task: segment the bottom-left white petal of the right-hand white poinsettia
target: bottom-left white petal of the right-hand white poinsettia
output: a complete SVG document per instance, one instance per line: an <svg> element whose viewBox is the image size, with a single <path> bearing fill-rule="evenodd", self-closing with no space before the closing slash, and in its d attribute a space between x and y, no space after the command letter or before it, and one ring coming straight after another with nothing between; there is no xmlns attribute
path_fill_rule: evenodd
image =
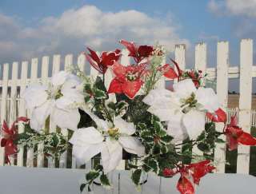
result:
<svg viewBox="0 0 256 194"><path fill-rule="evenodd" d="M181 111L176 111L174 114L170 115L170 120L168 121L167 126L167 134L174 137L172 140L173 143L183 141L188 137L185 126L182 125L183 116L184 113Z"/></svg>

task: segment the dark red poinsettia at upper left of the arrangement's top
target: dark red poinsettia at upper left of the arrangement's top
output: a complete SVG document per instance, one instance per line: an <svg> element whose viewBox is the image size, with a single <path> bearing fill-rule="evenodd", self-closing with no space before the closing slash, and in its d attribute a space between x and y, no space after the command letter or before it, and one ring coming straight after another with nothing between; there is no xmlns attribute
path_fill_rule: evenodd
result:
<svg viewBox="0 0 256 194"><path fill-rule="evenodd" d="M121 57L121 50L116 49L115 51L111 52L102 52L100 56L98 54L90 49L87 48L90 53L85 53L86 59L90 62L90 65L94 67L94 69L98 70L99 73L106 73L106 69L113 65L115 61L118 61Z"/></svg>

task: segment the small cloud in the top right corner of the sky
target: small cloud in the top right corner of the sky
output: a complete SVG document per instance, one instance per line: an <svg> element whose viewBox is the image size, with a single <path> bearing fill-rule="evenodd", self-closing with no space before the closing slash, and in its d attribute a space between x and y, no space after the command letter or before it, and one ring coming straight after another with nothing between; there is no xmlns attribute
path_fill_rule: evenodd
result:
<svg viewBox="0 0 256 194"><path fill-rule="evenodd" d="M214 14L256 17L256 0L210 0L208 8Z"/></svg>

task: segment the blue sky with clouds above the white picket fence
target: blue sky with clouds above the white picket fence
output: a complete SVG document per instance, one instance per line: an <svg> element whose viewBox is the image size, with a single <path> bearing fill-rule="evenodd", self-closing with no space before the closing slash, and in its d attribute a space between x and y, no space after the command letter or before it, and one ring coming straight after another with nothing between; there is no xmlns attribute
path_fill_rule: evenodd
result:
<svg viewBox="0 0 256 194"><path fill-rule="evenodd" d="M216 64L216 43L226 40L230 63L238 65L240 39L256 38L255 9L255 0L1 0L0 63L85 46L114 49L126 38L164 42L170 51L186 43L190 64L194 44L206 42L208 66Z"/></svg>

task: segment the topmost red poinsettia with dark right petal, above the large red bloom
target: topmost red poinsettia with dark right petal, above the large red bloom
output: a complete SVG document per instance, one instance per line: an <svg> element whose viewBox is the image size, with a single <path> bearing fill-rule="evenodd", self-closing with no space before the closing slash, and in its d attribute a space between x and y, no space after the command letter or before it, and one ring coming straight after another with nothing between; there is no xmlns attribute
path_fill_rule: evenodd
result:
<svg viewBox="0 0 256 194"><path fill-rule="evenodd" d="M134 42L127 42L125 40L121 40L120 43L126 46L126 49L130 52L128 56L134 57L136 63L139 63L146 57L150 57L154 50L153 46L136 46Z"/></svg>

